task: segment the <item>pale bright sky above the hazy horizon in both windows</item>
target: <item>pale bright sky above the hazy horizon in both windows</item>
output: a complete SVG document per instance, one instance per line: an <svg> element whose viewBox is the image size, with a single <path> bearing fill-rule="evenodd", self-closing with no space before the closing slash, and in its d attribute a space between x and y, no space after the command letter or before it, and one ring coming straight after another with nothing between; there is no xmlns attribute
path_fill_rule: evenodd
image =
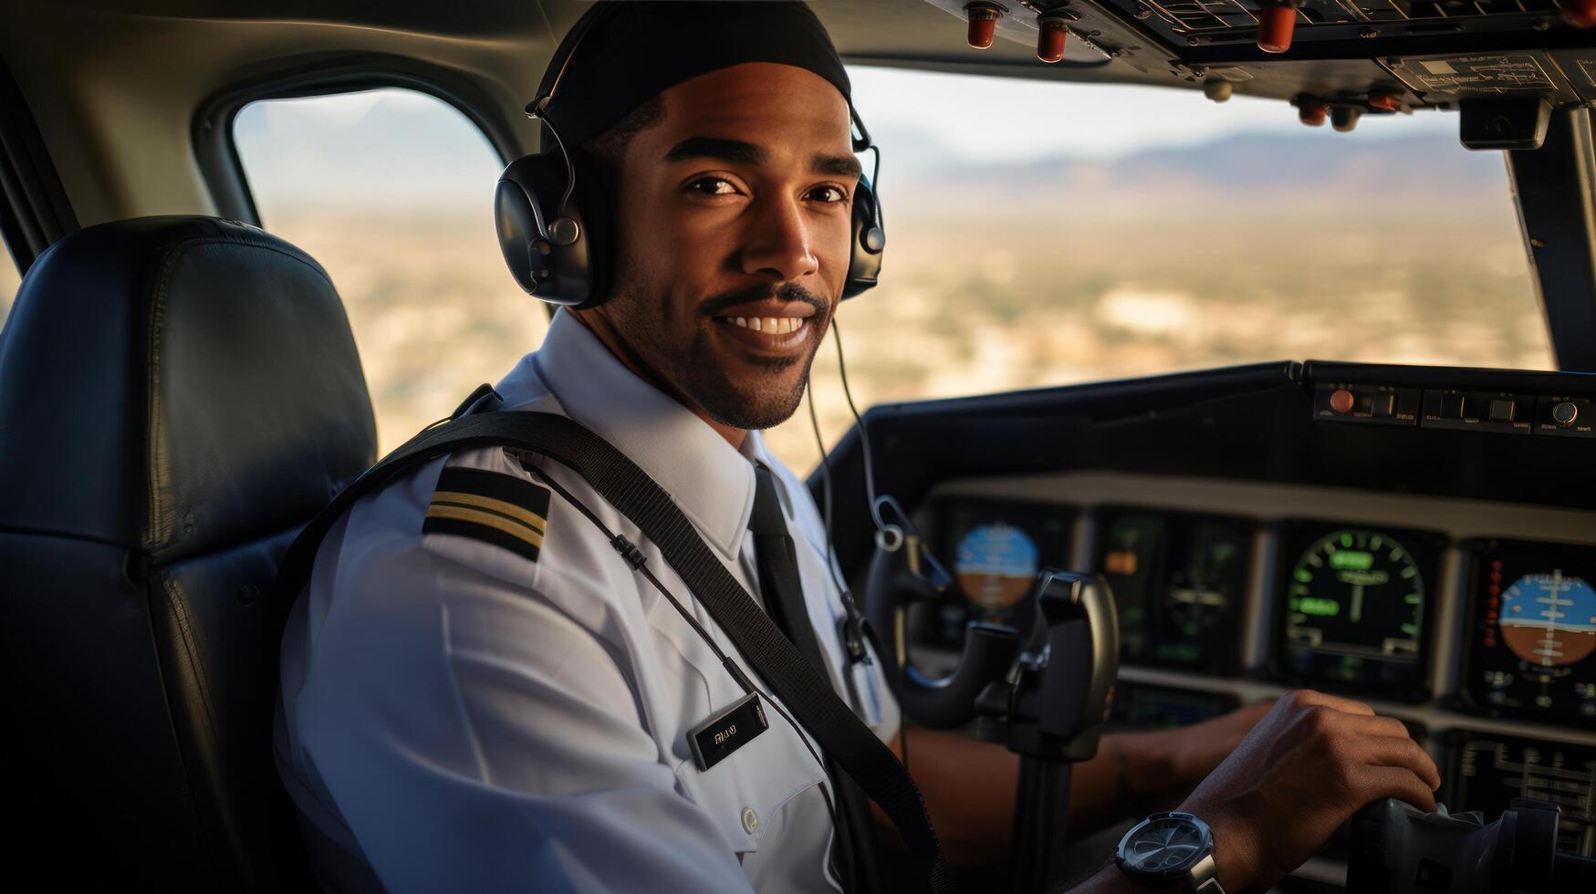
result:
<svg viewBox="0 0 1596 894"><path fill-rule="evenodd" d="M883 145L883 174L899 164L1114 160L1235 133L1301 134L1280 101L1210 102L1195 89L1026 81L902 69L852 67L854 101ZM1456 133L1457 118L1419 112L1365 118L1326 140ZM482 200L503 168L487 139L440 101L402 89L255 102L236 123L244 171L262 211L271 203L415 206ZM913 147L913 156L900 155Z"/></svg>

